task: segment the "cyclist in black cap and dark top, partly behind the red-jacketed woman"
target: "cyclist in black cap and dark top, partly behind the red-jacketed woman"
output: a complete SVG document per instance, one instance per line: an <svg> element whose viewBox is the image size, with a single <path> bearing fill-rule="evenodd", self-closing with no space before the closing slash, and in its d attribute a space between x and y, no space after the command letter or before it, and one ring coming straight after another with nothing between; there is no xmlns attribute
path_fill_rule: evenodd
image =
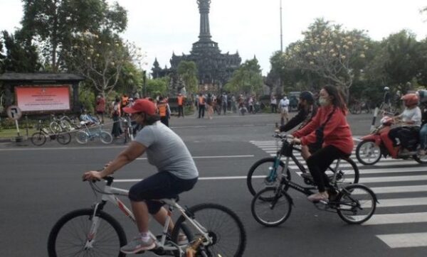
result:
<svg viewBox="0 0 427 257"><path fill-rule="evenodd" d="M316 116L317 106L315 104L315 97L313 97L313 94L310 91L301 92L300 99L298 101L298 109L299 111L297 115L290 119L285 125L280 126L280 132L288 132L292 128L295 128L295 126L298 126L298 124L300 124L298 127L298 130L300 130L301 128L304 128L304 126L307 125L314 116ZM319 150L319 148L316 147L315 144L302 146L302 158L307 160L307 158L317 150Z"/></svg>

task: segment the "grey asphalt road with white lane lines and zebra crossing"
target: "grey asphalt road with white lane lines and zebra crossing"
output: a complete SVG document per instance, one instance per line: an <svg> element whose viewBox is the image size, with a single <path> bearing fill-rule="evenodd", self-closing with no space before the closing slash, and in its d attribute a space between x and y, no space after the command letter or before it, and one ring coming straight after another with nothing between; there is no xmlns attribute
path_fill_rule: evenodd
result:
<svg viewBox="0 0 427 257"><path fill-rule="evenodd" d="M295 206L284 224L265 228L256 223L245 176L256 160L271 154L266 146L273 140L277 120L271 114L171 119L201 177L194 190L181 195L181 204L216 202L233 209L246 226L244 256L426 256L427 168L411 160L360 166L361 182L374 188L380 202L367 224L348 225L337 214L315 209L298 192L290 193ZM349 123L357 138L369 131L371 116L349 116ZM95 202L88 183L80 180L82 173L102 167L124 147L120 141L108 146L97 142L60 146L53 141L39 148L0 143L1 256L47 256L48 233L59 217ZM142 156L115 177L135 180L152 173L155 169ZM293 177L301 182L295 173ZM122 188L131 185L115 183ZM132 239L135 225L115 207L107 206L107 211ZM159 226L152 222L152 229Z"/></svg>

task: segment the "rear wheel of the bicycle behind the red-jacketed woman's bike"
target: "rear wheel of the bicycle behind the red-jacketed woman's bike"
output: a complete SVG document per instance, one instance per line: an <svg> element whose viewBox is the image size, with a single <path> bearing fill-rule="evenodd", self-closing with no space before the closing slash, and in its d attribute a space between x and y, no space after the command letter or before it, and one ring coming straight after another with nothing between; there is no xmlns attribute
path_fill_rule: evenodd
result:
<svg viewBox="0 0 427 257"><path fill-rule="evenodd" d="M336 182L357 184L359 182L359 168L356 163L354 163L350 158L339 159L338 169L335 170L337 167L337 161L338 160L334 160L329 168L332 173L337 173ZM354 177L349 177L349 175L354 175Z"/></svg>

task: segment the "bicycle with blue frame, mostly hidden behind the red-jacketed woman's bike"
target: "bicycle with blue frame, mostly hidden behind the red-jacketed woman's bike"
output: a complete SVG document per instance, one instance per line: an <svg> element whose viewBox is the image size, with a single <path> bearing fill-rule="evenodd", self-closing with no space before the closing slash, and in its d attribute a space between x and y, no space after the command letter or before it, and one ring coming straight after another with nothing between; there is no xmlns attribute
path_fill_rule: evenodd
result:
<svg viewBox="0 0 427 257"><path fill-rule="evenodd" d="M286 177L290 180L290 159L292 159L295 165L297 165L297 168L302 172L301 177L304 179L305 184L314 185L310 173L293 154L293 151L301 152L301 148L296 148L294 145L290 146L286 135L282 136L280 133L275 133L273 137L282 141L282 148L280 148L280 151L276 152L274 157L262 158L251 166L246 177L246 185L248 185L249 192L255 195L263 187L277 184L280 182L280 177L283 174L286 174ZM285 162L282 160L283 157L285 157ZM347 166L341 165L342 162L348 163L349 167L354 171L354 178L351 181L346 178L347 171L349 170L342 170L342 167ZM330 180L336 177L339 183L350 182L356 184L359 182L359 168L357 168L356 163L349 157L334 161L328 168L328 173L332 173L332 175L328 175ZM255 180L258 180L258 182L255 182Z"/></svg>

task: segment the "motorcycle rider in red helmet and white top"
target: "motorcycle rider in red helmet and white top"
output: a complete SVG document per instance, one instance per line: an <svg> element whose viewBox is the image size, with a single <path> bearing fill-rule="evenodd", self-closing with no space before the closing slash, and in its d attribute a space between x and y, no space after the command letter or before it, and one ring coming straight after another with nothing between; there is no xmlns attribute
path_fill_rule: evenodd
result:
<svg viewBox="0 0 427 257"><path fill-rule="evenodd" d="M405 110L398 116L392 117L394 123L399 126L391 128L389 138L393 146L406 147L407 138L418 137L421 126L421 109L418 107L417 94L405 94L401 100L404 102Z"/></svg>

